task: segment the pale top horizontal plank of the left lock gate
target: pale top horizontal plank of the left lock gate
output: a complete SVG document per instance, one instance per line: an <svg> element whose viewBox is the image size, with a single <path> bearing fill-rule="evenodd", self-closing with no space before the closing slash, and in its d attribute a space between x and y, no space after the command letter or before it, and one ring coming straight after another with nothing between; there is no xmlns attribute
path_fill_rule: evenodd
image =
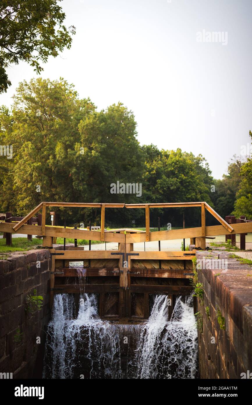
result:
<svg viewBox="0 0 252 405"><path fill-rule="evenodd" d="M55 259L120 259L121 256L117 252L117 250L55 250Z"/></svg>

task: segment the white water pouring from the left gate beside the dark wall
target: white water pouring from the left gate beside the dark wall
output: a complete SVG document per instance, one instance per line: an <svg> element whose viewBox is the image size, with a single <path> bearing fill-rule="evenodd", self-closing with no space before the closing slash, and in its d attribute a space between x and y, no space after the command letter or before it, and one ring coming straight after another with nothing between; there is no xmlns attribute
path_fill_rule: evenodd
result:
<svg viewBox="0 0 252 405"><path fill-rule="evenodd" d="M71 309L73 294L55 295L43 378L121 378L118 335L97 316L95 294L80 295L76 319Z"/></svg>

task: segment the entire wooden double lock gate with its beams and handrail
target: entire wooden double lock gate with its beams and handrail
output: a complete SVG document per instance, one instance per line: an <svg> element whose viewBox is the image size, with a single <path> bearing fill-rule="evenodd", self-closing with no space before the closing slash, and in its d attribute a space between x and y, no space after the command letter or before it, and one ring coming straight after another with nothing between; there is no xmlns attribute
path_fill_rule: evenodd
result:
<svg viewBox="0 0 252 405"><path fill-rule="evenodd" d="M49 207L88 207L101 209L101 229L69 229L46 225ZM146 231L134 229L105 230L105 209L145 209ZM176 230L150 232L150 208L200 207L201 226ZM42 225L30 225L33 215L42 210ZM205 226L205 210L219 222L217 226ZM28 224L27 224L28 222ZM150 294L174 296L189 294L192 290L192 258L197 248L205 249L205 238L223 234L252 232L252 223L228 224L207 203L162 204L106 204L106 203L40 203L18 223L0 223L1 232L36 234L43 238L43 246L51 252L51 305L54 294L94 292L99 294L101 317L148 318ZM87 239L118 243L118 250L83 250L71 247L67 250L53 248L53 237ZM190 238L195 244L193 251L147 251L134 248L134 243ZM69 262L83 262L83 267L69 267ZM82 281L81 281L82 280Z"/></svg>

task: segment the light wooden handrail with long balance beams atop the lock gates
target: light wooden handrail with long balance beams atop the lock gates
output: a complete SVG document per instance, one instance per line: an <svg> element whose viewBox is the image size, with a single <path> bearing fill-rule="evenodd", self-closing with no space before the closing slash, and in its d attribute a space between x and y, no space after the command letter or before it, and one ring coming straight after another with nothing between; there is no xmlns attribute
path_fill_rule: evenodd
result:
<svg viewBox="0 0 252 405"><path fill-rule="evenodd" d="M47 207L88 207L101 209L101 229L100 231L69 229L57 226L46 226L46 209ZM28 215L23 217L17 224L8 222L0 223L0 231L2 232L18 232L21 234L36 234L43 237L43 246L52 246L53 237L87 239L93 241L105 242L122 242L123 235L114 230L114 232L105 230L105 211L107 208L138 208L145 209L146 231L132 232L126 235L126 243L162 241L170 239L185 239L195 238L196 247L204 248L205 238L216 235L237 233L247 233L252 231L251 223L229 224L218 213L216 213L210 205L205 202L189 202L189 203L153 203L153 204L123 204L123 203L57 203L57 202L42 202L34 208ZM150 209L153 208L180 208L180 207L201 207L201 226L184 229L171 229L151 232L150 231ZM38 211L42 210L42 225L32 226L25 224ZM217 226L205 225L205 210L210 212L219 222Z"/></svg>

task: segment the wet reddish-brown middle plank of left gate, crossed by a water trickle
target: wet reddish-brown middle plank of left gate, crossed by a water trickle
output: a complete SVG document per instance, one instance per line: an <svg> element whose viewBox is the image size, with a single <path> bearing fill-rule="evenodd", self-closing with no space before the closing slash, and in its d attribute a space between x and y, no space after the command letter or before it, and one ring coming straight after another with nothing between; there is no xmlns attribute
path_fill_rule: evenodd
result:
<svg viewBox="0 0 252 405"><path fill-rule="evenodd" d="M97 269L94 269L93 267L87 267L85 269L83 267L62 267L57 268L57 271L63 274L55 274L55 277L78 277L78 271L82 271L83 275L86 277L119 277L120 275L119 267L103 267Z"/></svg>

